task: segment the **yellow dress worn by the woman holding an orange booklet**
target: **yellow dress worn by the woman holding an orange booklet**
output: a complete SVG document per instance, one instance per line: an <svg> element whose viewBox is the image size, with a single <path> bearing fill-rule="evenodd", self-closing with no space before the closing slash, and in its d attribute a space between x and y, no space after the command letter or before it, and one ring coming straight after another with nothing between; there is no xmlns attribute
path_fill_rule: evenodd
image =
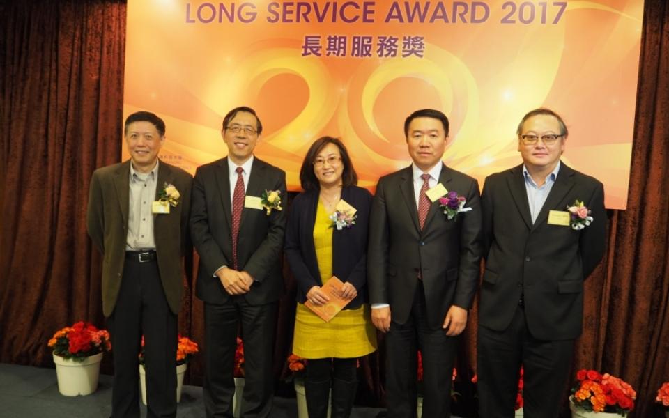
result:
<svg viewBox="0 0 669 418"><path fill-rule="evenodd" d="M314 223L314 246L321 281L332 277L332 221L318 201ZM353 228L365 227L355 225ZM335 261L336 262L336 261ZM346 279L340 277L339 279ZM343 309L330 322L325 322L304 304L298 303L295 314L293 353L306 359L327 357L362 357L376 350L376 330L371 323L369 304L357 309Z"/></svg>

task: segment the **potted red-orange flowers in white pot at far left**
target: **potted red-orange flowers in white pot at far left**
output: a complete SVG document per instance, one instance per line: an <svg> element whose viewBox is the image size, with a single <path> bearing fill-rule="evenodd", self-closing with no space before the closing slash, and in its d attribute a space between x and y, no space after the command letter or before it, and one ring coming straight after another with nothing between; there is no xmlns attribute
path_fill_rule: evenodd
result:
<svg viewBox="0 0 669 418"><path fill-rule="evenodd" d="M109 332L79 321L56 331L49 339L52 348L58 390L65 396L88 395L95 392L100 377L102 353L112 350Z"/></svg>

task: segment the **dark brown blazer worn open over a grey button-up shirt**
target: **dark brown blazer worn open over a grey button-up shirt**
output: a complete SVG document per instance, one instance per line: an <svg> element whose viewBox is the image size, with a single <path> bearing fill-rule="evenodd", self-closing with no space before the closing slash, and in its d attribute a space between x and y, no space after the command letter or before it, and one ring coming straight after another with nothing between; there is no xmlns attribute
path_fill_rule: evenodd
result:
<svg viewBox="0 0 669 418"><path fill-rule="evenodd" d="M157 194L171 183L181 197L169 214L153 215L153 235L160 281L169 307L178 314L183 293L183 256L186 253L192 176L166 162L158 166ZM128 235L130 160L95 170L91 179L86 225L93 243L102 252L102 312L114 312L121 288L125 243Z"/></svg>

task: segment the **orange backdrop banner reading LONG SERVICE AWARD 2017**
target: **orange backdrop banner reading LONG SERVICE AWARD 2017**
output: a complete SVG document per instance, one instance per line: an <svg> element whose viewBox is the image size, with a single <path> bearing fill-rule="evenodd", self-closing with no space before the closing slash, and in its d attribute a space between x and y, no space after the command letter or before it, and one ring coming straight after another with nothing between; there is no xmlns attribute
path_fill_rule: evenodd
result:
<svg viewBox="0 0 669 418"><path fill-rule="evenodd" d="M128 0L123 113L164 118L160 157L194 173L227 154L222 118L247 105L255 153L289 189L323 135L373 189L409 164L416 109L447 114L443 160L482 184L521 162L523 114L550 107L569 127L563 160L624 209L642 16L643 0Z"/></svg>

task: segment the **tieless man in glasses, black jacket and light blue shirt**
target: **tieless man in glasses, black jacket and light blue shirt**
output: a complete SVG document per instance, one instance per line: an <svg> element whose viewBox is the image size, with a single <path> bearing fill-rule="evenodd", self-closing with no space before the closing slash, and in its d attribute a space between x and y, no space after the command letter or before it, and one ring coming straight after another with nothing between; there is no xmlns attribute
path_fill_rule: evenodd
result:
<svg viewBox="0 0 669 418"><path fill-rule="evenodd" d="M583 281L603 256L604 192L560 161L560 115L530 111L517 134L523 164L486 178L482 194L479 412L514 416L522 365L525 416L555 418L583 327Z"/></svg>

